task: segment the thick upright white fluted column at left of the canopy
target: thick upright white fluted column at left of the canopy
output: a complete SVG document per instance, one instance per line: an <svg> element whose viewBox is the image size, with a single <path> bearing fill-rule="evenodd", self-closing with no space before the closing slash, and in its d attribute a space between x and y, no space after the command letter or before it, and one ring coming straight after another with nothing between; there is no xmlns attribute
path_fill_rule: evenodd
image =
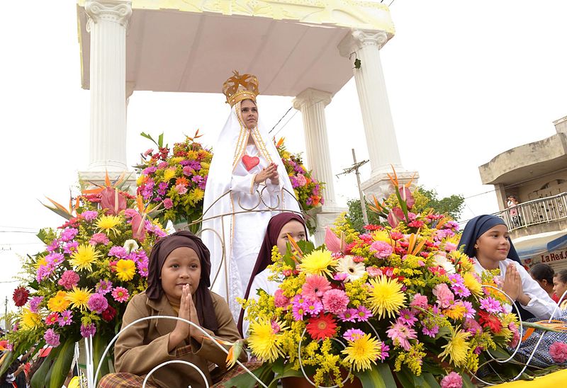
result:
<svg viewBox="0 0 567 388"><path fill-rule="evenodd" d="M126 171L126 28L132 2L87 0L91 33L89 171Z"/></svg>

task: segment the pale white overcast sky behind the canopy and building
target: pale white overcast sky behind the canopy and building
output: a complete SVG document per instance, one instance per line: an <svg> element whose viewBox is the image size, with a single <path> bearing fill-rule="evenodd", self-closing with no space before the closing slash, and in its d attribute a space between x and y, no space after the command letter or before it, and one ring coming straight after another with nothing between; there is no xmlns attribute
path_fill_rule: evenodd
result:
<svg viewBox="0 0 567 388"><path fill-rule="evenodd" d="M403 165L439 195L464 195L463 219L498 211L493 193L478 195L493 190L481 185L478 166L553 135L552 121L567 115L567 1L395 0L391 14L396 34L381 59ZM18 253L41 248L33 232L62 223L38 200L67 202L77 171L86 169L89 91L81 89L74 1L5 2L0 42L6 282L18 271ZM290 107L291 98L259 97L270 128ZM326 114L332 171L339 173L352 163L351 148L368 157L354 79ZM128 164L152 146L142 131L165 132L172 144L200 128L203 143L214 146L227 115L221 94L136 91L128 107ZM290 151L305 151L301 113L291 110L279 128ZM363 181L368 177L366 166ZM355 182L335 180L339 203L357 197ZM0 283L0 305L15 285Z"/></svg>

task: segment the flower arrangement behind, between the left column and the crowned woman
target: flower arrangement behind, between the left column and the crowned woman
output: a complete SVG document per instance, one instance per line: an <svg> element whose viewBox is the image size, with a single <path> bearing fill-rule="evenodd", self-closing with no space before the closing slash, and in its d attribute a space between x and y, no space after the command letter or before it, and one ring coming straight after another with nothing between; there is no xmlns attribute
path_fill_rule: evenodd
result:
<svg viewBox="0 0 567 388"><path fill-rule="evenodd" d="M158 149L157 152L148 149L142 154L142 164L137 166L141 171L137 193L149 205L150 212L161 208L156 218L162 224L168 220L174 224L191 224L203 215L203 197L213 154L195 141L201 137L198 131L184 142L175 143L172 149L167 144L164 146L163 134L157 142L150 135L143 132L141 135L152 140ZM198 229L198 225L193 229Z"/></svg>

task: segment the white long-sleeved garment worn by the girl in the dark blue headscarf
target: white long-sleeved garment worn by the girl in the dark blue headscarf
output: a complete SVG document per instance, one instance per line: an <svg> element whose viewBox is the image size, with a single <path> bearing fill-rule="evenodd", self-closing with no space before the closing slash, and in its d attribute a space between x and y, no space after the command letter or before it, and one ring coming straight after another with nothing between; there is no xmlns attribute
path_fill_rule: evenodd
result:
<svg viewBox="0 0 567 388"><path fill-rule="evenodd" d="M485 270L481 263L479 263L477 258L473 258L474 260L474 269L476 273L483 273ZM499 261L498 267L500 268L500 278L504 281L504 277L506 275L506 268L510 263L514 263L518 273L520 274L520 278L522 279L522 288L524 290L524 294L529 296L531 299L529 300L527 306L522 304L522 307L526 309L528 312L534 314L537 319L549 319L551 314L555 316L561 316L561 310L557 309L556 302L553 301L547 294L547 292L541 288L541 286L532 279L532 276L527 273L524 267L517 263L517 261L510 260L507 258L506 260ZM512 309L515 312L514 309Z"/></svg>

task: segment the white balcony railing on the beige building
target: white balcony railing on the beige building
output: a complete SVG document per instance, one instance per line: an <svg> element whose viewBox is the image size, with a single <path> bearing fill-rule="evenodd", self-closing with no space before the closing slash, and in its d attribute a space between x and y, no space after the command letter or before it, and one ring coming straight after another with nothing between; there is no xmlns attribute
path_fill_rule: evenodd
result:
<svg viewBox="0 0 567 388"><path fill-rule="evenodd" d="M566 219L567 193L523 202L494 215L504 219L509 231Z"/></svg>

